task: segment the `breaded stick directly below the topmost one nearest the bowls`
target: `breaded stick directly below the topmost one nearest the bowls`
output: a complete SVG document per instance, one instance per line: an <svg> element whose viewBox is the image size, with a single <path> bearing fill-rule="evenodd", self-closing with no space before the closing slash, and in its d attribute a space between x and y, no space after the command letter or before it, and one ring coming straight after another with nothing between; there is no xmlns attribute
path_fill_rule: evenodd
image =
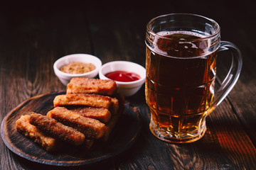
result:
<svg viewBox="0 0 256 170"><path fill-rule="evenodd" d="M81 105L95 108L110 108L111 98L97 94L63 94L55 96L54 107L67 105Z"/></svg>

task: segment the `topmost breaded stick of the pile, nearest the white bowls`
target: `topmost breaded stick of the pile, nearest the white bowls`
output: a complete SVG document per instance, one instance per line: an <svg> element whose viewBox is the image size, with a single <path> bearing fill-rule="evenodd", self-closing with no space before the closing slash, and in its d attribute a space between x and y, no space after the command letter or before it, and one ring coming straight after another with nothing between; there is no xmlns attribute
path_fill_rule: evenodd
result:
<svg viewBox="0 0 256 170"><path fill-rule="evenodd" d="M75 77L67 86L67 94L102 94L112 96L117 91L114 80Z"/></svg>

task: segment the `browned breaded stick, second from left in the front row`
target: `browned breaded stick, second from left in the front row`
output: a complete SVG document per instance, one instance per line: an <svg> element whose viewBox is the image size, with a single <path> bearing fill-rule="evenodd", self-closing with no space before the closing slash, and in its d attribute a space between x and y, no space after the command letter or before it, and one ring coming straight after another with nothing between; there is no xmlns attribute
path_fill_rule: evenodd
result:
<svg viewBox="0 0 256 170"><path fill-rule="evenodd" d="M29 123L35 125L36 128L42 130L43 132L46 132L46 134L75 146L82 145L85 140L85 135L78 130L63 125L53 118L48 118L46 115L32 112Z"/></svg>

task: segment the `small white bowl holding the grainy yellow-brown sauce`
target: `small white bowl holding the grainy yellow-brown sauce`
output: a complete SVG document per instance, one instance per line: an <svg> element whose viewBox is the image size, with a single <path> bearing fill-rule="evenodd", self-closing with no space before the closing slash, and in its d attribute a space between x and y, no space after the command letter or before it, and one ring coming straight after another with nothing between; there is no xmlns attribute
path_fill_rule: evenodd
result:
<svg viewBox="0 0 256 170"><path fill-rule="evenodd" d="M85 62L85 63L92 63L95 65L96 69L92 70L92 72L82 73L82 74L69 74L60 71L60 67L63 67L65 64L70 64L71 62ZM99 58L93 55L87 54L73 54L73 55L66 55L61 57L60 59L56 60L53 64L53 69L60 81L66 86L70 79L73 77L87 77L87 78L94 78L99 73L99 69L102 66L102 62Z"/></svg>

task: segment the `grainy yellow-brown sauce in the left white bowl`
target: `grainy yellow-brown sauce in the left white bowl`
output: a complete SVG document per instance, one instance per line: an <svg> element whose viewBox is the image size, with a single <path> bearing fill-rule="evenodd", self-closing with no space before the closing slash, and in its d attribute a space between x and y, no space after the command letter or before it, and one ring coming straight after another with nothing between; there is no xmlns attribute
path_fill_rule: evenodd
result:
<svg viewBox="0 0 256 170"><path fill-rule="evenodd" d="M70 64L66 64L61 67L60 71L69 74L82 74L86 72L91 72L94 69L96 69L96 67L92 63L71 62Z"/></svg>

